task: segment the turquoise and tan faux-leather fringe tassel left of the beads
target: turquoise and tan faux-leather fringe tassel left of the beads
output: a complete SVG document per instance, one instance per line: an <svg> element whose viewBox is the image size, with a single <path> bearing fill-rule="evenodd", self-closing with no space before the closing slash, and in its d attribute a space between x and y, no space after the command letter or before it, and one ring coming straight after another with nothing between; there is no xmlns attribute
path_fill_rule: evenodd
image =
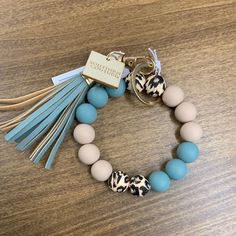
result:
<svg viewBox="0 0 236 236"><path fill-rule="evenodd" d="M16 148L24 151L46 134L30 159L33 163L38 163L54 144L45 165L45 168L50 169L75 118L75 109L83 102L88 89L89 85L83 77L77 76L26 96L0 99L0 103L10 104L0 106L1 111L21 109L37 102L26 112L0 123L1 130L9 131L5 139L10 143L17 143Z"/></svg>

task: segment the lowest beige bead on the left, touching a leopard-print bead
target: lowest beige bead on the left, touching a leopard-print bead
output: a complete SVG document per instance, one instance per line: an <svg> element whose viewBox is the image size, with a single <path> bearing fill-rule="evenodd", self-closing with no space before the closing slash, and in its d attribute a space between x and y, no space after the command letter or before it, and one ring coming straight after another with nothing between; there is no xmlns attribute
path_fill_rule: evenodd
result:
<svg viewBox="0 0 236 236"><path fill-rule="evenodd" d="M98 181L106 181L112 173L112 166L108 161L99 160L92 165L91 174Z"/></svg>

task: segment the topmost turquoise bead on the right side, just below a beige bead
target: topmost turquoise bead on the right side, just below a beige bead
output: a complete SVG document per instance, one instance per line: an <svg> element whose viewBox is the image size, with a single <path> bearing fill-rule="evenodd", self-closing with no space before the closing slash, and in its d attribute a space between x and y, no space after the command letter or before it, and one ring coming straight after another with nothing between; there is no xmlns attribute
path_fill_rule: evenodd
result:
<svg viewBox="0 0 236 236"><path fill-rule="evenodd" d="M183 142L177 148L177 157L186 163L194 162L198 155L199 149L196 144Z"/></svg>

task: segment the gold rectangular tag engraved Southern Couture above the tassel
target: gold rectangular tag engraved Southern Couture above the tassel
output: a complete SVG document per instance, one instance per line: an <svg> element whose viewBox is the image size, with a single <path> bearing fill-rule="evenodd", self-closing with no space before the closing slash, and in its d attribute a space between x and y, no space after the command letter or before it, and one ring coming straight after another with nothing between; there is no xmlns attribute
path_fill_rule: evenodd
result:
<svg viewBox="0 0 236 236"><path fill-rule="evenodd" d="M97 83L118 88L124 67L123 62L108 60L107 56L91 51L82 74Z"/></svg>

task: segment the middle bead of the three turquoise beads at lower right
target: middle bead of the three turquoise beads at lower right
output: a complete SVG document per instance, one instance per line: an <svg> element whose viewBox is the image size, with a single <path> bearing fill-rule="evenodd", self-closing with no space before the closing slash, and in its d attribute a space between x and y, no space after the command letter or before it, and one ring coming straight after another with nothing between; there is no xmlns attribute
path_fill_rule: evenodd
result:
<svg viewBox="0 0 236 236"><path fill-rule="evenodd" d="M165 171L171 179L180 180L187 174L187 165L181 160L173 159L167 162Z"/></svg>

